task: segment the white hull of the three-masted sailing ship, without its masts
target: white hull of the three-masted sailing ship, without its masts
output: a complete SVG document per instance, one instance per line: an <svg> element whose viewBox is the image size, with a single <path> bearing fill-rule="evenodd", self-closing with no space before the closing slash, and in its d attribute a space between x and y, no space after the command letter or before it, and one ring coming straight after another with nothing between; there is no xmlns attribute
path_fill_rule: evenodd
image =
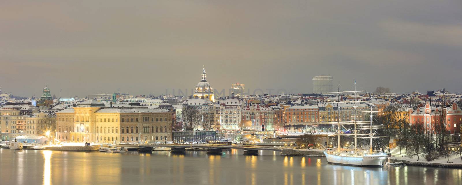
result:
<svg viewBox="0 0 462 185"><path fill-rule="evenodd" d="M326 155L328 163L360 167L382 167L383 162L388 158L388 156L383 153L372 155L348 155L344 153L324 152L324 155Z"/></svg>

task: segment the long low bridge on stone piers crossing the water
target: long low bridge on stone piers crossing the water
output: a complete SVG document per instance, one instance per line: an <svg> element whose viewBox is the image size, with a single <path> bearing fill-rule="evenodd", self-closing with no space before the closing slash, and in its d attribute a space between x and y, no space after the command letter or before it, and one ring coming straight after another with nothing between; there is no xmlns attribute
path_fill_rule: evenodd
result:
<svg viewBox="0 0 462 185"><path fill-rule="evenodd" d="M171 148L171 152L186 152L186 148L203 148L207 153L222 153L223 149L242 149L244 154L258 155L258 150L282 152L281 147L255 146L255 145L228 145L228 144L119 144L118 146L138 146L138 151L151 151L154 147ZM287 149L286 149L287 150ZM292 149L289 149L292 150Z"/></svg>

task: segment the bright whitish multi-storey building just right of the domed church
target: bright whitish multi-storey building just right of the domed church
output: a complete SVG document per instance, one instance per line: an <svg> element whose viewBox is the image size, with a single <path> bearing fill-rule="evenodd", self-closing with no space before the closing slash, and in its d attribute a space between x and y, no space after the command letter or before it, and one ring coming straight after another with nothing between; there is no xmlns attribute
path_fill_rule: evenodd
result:
<svg viewBox="0 0 462 185"><path fill-rule="evenodd" d="M242 105L243 102L234 97L220 101L219 124L222 130L241 129Z"/></svg>

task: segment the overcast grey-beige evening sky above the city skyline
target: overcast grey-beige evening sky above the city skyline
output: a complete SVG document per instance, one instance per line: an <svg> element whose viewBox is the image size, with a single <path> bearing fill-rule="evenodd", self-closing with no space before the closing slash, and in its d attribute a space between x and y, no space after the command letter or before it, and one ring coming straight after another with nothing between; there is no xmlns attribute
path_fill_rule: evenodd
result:
<svg viewBox="0 0 462 185"><path fill-rule="evenodd" d="M201 80L311 93L462 93L461 0L0 1L0 87L172 94Z"/></svg>

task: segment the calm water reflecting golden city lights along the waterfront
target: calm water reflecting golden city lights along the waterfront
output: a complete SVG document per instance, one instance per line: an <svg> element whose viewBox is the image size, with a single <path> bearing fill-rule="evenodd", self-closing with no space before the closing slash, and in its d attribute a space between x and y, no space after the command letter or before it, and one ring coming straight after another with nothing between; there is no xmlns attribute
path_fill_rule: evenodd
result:
<svg viewBox="0 0 462 185"><path fill-rule="evenodd" d="M325 158L242 150L63 152L0 149L0 185L461 185L462 169L330 165Z"/></svg>

